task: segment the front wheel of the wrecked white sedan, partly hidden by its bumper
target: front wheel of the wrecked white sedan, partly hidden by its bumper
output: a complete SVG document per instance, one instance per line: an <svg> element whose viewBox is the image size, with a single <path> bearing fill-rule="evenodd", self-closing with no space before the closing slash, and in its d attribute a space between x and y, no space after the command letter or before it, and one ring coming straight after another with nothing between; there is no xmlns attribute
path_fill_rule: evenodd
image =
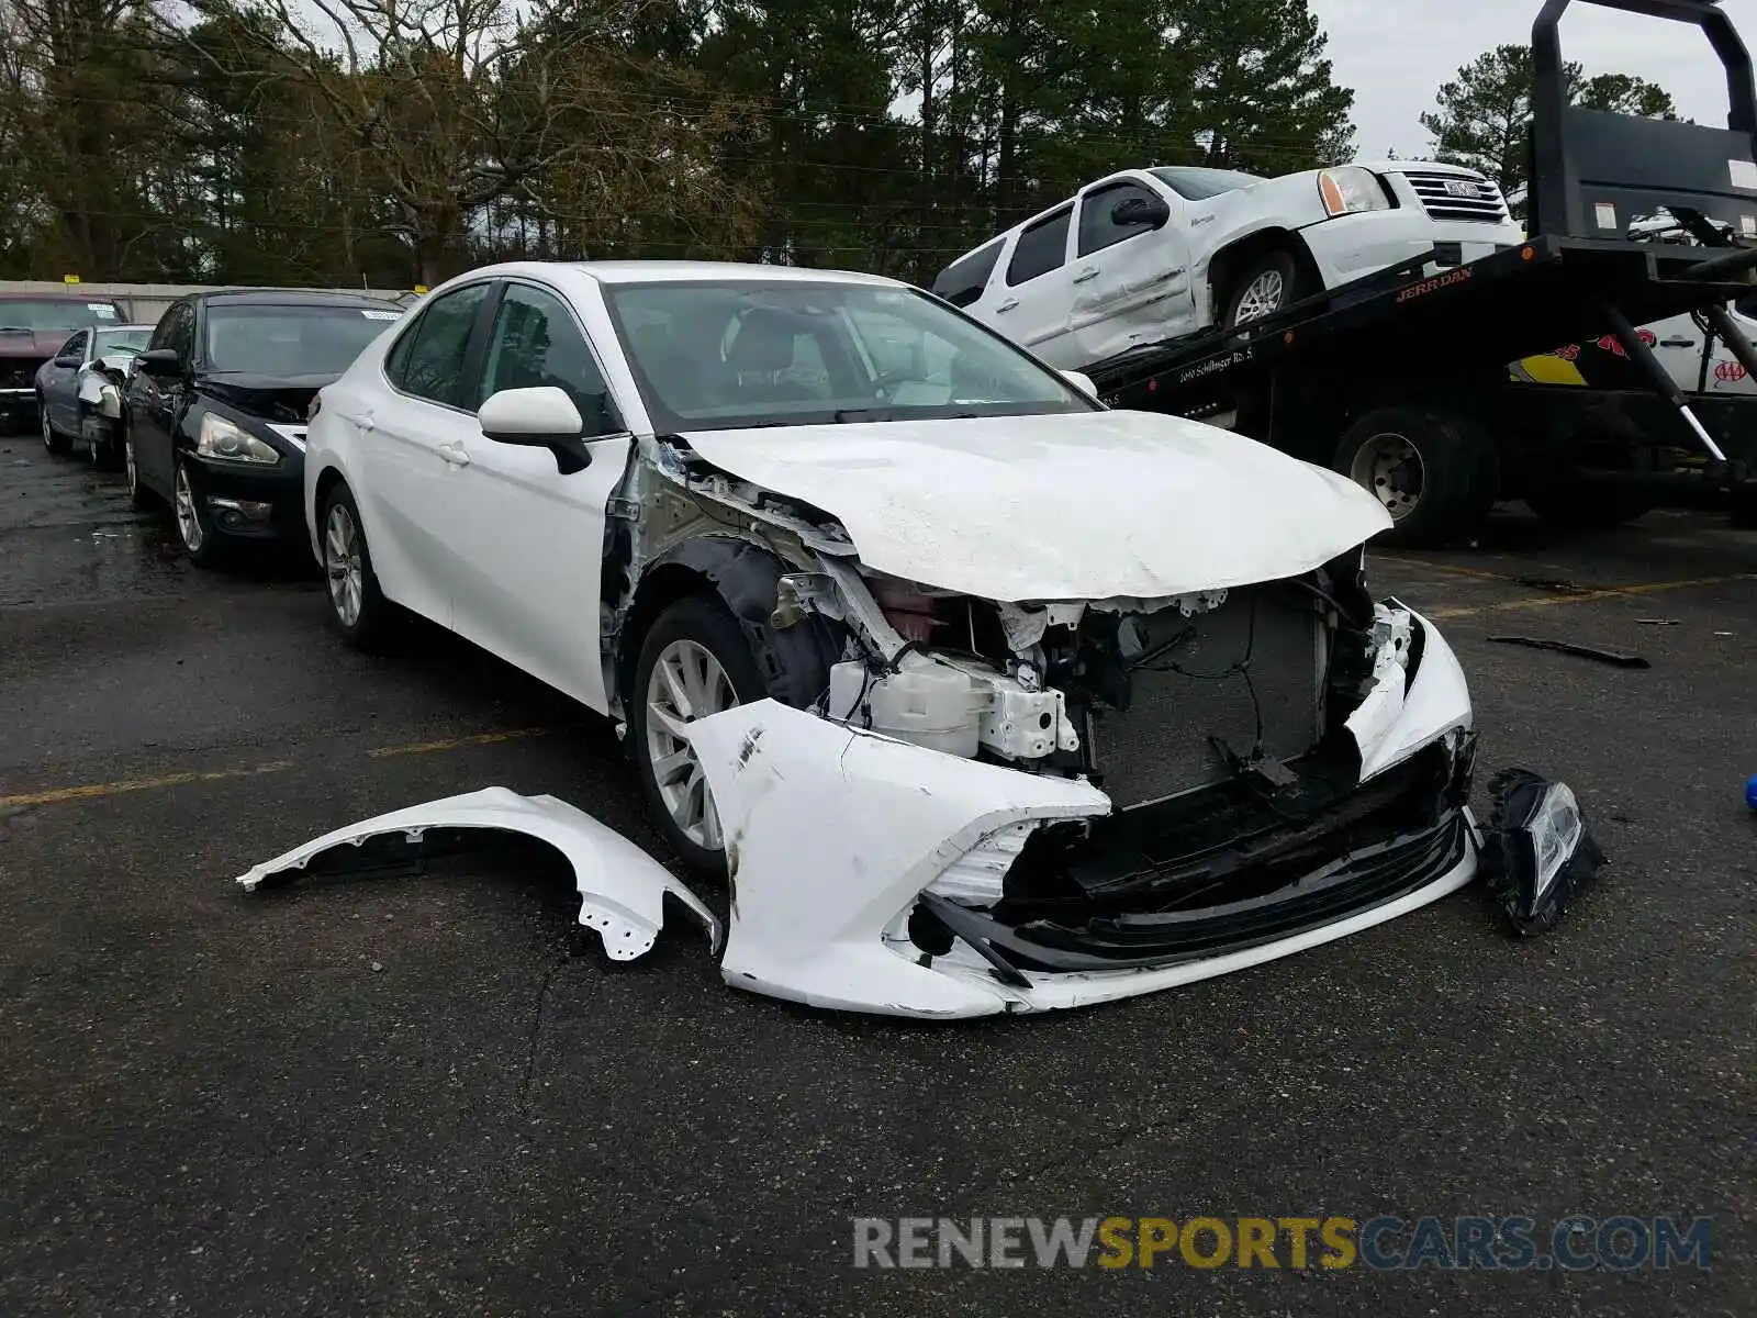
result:
<svg viewBox="0 0 1757 1318"><path fill-rule="evenodd" d="M726 873L726 840L682 728L764 692L750 643L713 596L671 605L641 641L627 699L641 787L666 840L705 873Z"/></svg>

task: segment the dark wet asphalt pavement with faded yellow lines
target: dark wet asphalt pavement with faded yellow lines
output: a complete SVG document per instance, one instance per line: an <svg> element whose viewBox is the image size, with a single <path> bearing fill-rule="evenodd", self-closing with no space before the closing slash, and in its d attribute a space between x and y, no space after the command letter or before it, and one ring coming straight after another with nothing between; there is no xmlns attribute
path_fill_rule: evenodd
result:
<svg viewBox="0 0 1757 1318"><path fill-rule="evenodd" d="M0 1313L1757 1313L1757 534L1515 510L1372 575L1458 650L1481 780L1585 801L1611 868L1555 935L1469 889L1182 991L882 1021L736 993L687 926L611 967L529 849L242 893L490 784L662 851L604 722L432 629L357 655L309 569L199 571L0 439ZM1576 1213L1711 1218L1710 1267L852 1267L868 1216Z"/></svg>

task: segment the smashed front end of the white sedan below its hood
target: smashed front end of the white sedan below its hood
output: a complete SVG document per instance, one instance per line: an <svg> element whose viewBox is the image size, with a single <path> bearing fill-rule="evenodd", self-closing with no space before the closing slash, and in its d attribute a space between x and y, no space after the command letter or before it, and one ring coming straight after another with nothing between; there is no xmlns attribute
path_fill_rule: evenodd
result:
<svg viewBox="0 0 1757 1318"><path fill-rule="evenodd" d="M689 729L733 880L727 982L905 1016L1074 1007L1476 877L1464 675L1370 599L1358 547L1230 589L989 601L813 540L766 627L840 638L822 696Z"/></svg>

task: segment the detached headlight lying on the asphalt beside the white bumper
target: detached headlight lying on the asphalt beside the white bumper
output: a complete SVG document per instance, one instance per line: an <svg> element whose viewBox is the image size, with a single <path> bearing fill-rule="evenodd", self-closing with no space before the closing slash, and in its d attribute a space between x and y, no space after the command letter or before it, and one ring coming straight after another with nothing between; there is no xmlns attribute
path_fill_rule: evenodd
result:
<svg viewBox="0 0 1757 1318"><path fill-rule="evenodd" d="M1483 859L1490 889L1515 933L1548 933L1581 884L1604 866L1604 852L1565 782L1506 770L1488 793L1493 815Z"/></svg>

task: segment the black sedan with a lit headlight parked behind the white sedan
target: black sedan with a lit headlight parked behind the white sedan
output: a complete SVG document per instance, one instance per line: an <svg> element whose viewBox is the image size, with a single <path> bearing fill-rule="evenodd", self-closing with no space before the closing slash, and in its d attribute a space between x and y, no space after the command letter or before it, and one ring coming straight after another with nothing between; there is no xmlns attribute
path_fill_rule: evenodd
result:
<svg viewBox="0 0 1757 1318"><path fill-rule="evenodd" d="M137 506L169 503L190 559L307 547L300 508L311 399L402 309L360 293L192 293L160 318L123 408Z"/></svg>

